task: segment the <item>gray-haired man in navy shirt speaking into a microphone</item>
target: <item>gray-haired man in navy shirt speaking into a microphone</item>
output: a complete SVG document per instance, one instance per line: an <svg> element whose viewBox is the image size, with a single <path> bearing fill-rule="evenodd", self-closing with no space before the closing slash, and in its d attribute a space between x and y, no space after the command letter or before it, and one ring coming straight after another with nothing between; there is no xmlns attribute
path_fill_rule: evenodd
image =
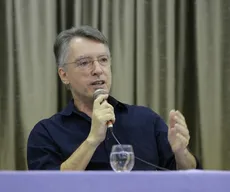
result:
<svg viewBox="0 0 230 192"><path fill-rule="evenodd" d="M111 170L109 155L116 140L130 144L133 170L200 168L189 152L189 131L179 111L169 114L169 127L146 107L127 105L109 96L112 75L107 39L89 26L61 32L54 45L58 74L73 99L54 116L41 120L28 139L29 170ZM107 94L93 94L103 89Z"/></svg>

